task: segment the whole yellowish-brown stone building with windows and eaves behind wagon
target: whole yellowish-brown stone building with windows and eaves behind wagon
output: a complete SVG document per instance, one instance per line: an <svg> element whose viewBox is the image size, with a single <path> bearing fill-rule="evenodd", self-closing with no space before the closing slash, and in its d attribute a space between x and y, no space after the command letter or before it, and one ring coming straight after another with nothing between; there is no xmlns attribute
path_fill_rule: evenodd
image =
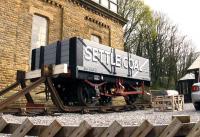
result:
<svg viewBox="0 0 200 137"><path fill-rule="evenodd" d="M31 50L78 36L123 50L118 0L0 0L0 89L30 70Z"/></svg>

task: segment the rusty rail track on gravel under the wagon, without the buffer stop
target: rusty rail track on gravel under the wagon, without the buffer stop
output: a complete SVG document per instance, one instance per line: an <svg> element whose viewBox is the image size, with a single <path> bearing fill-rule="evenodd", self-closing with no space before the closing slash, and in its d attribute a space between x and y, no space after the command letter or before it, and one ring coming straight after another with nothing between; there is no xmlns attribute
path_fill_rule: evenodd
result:
<svg viewBox="0 0 200 137"><path fill-rule="evenodd" d="M37 105L37 104L34 104ZM41 104L40 104L41 105ZM82 113L82 114L93 114L93 113L112 113L112 112L126 112L126 111L136 111L142 109L151 108L150 104L135 104L135 105L121 105L121 106L96 106L96 107L86 107L86 106L75 106L68 107L69 111L65 113ZM61 115L64 113L56 106L26 106L26 107L6 107L0 111L4 114L14 114L23 116L35 116L35 115Z"/></svg>

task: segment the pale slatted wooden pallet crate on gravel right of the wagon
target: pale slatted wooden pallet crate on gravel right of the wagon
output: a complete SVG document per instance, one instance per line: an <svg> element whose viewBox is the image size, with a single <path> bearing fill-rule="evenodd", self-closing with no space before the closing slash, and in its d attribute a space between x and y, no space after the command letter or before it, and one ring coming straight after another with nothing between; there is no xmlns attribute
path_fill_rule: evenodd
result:
<svg viewBox="0 0 200 137"><path fill-rule="evenodd" d="M155 96L152 101L154 111L182 111L184 95Z"/></svg>

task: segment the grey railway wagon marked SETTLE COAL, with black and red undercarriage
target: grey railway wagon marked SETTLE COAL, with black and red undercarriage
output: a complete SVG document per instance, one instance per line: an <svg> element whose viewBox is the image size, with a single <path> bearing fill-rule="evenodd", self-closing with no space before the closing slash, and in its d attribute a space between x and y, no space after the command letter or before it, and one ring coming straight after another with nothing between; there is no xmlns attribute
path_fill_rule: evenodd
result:
<svg viewBox="0 0 200 137"><path fill-rule="evenodd" d="M107 105L116 96L132 104L143 94L136 88L150 83L148 59L78 37L33 49L26 77L36 77L43 65L63 69L51 79L67 106Z"/></svg>

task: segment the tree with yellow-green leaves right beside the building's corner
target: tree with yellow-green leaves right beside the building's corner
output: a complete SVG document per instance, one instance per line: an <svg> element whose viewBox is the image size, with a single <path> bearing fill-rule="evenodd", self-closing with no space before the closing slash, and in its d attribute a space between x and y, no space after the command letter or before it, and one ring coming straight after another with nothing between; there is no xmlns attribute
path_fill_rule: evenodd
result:
<svg viewBox="0 0 200 137"><path fill-rule="evenodd" d="M151 11L140 0L121 0L119 5L119 13L128 20L124 28L125 50L140 55L144 49L144 34L153 20Z"/></svg>

